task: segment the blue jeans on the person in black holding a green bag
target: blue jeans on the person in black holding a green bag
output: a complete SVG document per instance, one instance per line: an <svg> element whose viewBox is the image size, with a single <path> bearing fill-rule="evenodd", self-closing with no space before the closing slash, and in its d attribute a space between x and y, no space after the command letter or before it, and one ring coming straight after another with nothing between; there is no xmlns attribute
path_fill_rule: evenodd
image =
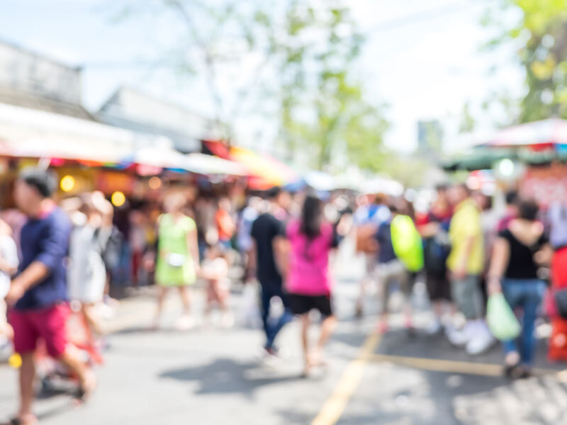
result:
<svg viewBox="0 0 567 425"><path fill-rule="evenodd" d="M522 334L520 335L520 350L517 341L505 341L504 352L515 351L520 354L522 364L531 365L534 361L535 341L534 323L537 309L544 296L545 283L539 279L504 279L502 290L512 310L523 312Z"/></svg>

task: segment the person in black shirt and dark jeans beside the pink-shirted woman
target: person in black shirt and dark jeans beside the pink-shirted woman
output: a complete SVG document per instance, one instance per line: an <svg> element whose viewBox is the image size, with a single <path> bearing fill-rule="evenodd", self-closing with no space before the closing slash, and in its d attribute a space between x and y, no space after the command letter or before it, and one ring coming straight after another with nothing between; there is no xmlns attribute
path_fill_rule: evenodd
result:
<svg viewBox="0 0 567 425"><path fill-rule="evenodd" d="M290 196L280 188L272 188L268 193L270 201L269 212L259 215L252 223L252 239L254 246L250 253L250 261L256 265L257 278L261 287L262 298L262 322L266 333L266 345L264 349L270 356L276 354L274 341L283 326L291 322L293 314L288 308L288 300L283 293L281 268L278 259L279 251L283 249L286 237L286 218L290 202ZM281 298L285 311L279 319L272 323L270 317L270 305L273 297Z"/></svg>

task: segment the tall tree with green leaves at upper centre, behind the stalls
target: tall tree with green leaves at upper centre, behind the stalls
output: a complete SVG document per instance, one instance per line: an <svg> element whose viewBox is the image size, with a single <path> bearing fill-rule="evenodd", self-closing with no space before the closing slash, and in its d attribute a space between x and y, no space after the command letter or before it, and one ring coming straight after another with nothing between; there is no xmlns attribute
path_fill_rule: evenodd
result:
<svg viewBox="0 0 567 425"><path fill-rule="evenodd" d="M292 37L281 48L281 138L291 154L308 147L318 169L332 167L333 158L379 169L388 128L384 106L364 99L351 72L364 39L342 1L309 3L288 2Z"/></svg>

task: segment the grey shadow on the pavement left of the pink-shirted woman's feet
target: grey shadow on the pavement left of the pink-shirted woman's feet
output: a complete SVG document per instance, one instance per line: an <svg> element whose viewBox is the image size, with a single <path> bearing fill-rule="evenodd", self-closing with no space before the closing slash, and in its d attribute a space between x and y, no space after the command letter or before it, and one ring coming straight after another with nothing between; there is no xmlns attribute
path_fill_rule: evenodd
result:
<svg viewBox="0 0 567 425"><path fill-rule="evenodd" d="M167 370L159 378L198 382L196 394L232 394L252 396L260 387L301 379L299 375L283 375L257 362L240 363L219 358L208 365Z"/></svg>

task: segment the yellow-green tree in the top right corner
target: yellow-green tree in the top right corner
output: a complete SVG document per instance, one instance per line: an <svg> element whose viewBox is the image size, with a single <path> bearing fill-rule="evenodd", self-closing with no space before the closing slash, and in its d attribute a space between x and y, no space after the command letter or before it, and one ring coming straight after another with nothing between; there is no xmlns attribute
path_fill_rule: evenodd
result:
<svg viewBox="0 0 567 425"><path fill-rule="evenodd" d="M485 24L504 28L490 45L519 47L526 91L518 120L567 118L567 0L502 0L498 6L489 8ZM512 24L511 16L517 16Z"/></svg>

